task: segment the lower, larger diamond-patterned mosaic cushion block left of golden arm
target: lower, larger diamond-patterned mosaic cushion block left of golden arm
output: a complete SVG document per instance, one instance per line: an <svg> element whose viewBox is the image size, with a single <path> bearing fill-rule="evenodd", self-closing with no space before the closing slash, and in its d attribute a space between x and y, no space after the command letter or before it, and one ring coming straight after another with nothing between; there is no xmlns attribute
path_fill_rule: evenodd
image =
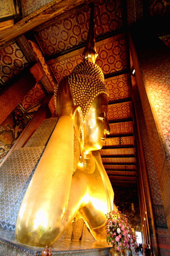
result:
<svg viewBox="0 0 170 256"><path fill-rule="evenodd" d="M0 168L0 228L14 232L19 206L44 147L14 150Z"/></svg>

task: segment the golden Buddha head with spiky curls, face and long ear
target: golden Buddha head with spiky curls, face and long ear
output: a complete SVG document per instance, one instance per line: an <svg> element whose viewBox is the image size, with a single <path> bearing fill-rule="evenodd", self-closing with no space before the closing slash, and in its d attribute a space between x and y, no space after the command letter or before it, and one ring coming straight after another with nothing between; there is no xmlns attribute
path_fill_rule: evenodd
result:
<svg viewBox="0 0 170 256"><path fill-rule="evenodd" d="M79 156L84 162L85 151L101 149L106 134L110 133L107 120L108 89L99 66L90 61L78 64L68 76L68 84L74 100L74 171ZM55 97L57 87L55 88ZM78 145L79 144L79 145ZM79 153L78 153L79 150ZM88 153L87 153L88 154Z"/></svg>

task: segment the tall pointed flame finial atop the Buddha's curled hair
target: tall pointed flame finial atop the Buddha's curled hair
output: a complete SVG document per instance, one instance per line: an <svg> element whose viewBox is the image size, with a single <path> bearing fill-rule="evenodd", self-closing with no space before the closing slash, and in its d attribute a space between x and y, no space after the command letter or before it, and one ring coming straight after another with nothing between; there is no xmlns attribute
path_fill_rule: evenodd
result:
<svg viewBox="0 0 170 256"><path fill-rule="evenodd" d="M94 63L97 56L98 56L98 53L96 52L96 43L95 43L95 37L94 37L94 7L92 3L91 12L90 12L89 31L87 34L87 40L86 40L85 49L83 52L83 59Z"/></svg>

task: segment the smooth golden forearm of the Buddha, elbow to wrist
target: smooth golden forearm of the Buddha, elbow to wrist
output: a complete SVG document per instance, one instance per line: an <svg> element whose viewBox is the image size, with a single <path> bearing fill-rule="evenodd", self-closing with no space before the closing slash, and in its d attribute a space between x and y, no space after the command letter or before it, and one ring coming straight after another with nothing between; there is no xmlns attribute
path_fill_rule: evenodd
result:
<svg viewBox="0 0 170 256"><path fill-rule="evenodd" d="M53 244L65 216L73 171L74 128L61 116L20 206L15 239L23 244Z"/></svg>

